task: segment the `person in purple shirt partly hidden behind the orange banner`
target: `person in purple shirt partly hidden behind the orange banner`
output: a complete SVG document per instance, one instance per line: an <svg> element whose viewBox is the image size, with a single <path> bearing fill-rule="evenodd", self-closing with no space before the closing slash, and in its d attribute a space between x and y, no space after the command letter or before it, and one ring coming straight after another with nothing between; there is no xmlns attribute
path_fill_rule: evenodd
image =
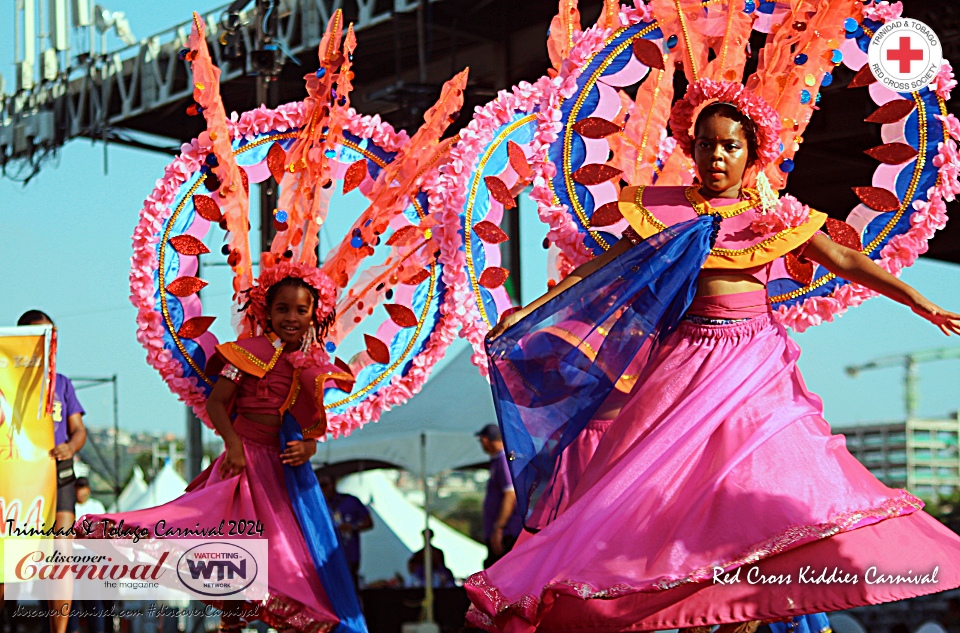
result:
<svg viewBox="0 0 960 633"><path fill-rule="evenodd" d="M40 310L27 310L17 325L53 325L53 320ZM87 431L83 427L83 407L77 399L73 383L63 374L57 374L53 393L53 448L50 457L57 460L57 516L54 527L67 530L73 527L77 493L74 488L76 477L73 474L73 456L83 448L87 441ZM52 610L64 613L70 611L69 600L51 600ZM66 616L50 618L52 633L65 633L68 619Z"/></svg>

